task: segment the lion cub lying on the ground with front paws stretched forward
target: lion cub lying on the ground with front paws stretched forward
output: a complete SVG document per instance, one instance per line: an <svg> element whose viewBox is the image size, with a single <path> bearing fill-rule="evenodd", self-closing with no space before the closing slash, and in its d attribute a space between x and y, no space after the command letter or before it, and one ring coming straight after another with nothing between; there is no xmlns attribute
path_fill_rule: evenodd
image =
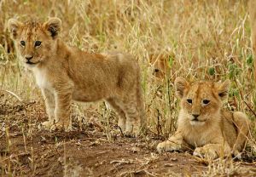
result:
<svg viewBox="0 0 256 177"><path fill-rule="evenodd" d="M160 143L157 151L195 148L195 156L215 159L243 150L249 132L247 116L241 111L231 113L222 109L230 80L188 83L177 77L175 87L181 98L177 132Z"/></svg>

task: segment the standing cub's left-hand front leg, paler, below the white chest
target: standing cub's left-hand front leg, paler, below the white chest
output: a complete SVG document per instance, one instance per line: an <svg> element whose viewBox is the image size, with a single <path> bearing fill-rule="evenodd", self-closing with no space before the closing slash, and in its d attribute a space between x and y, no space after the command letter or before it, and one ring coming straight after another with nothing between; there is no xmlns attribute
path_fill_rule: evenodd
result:
<svg viewBox="0 0 256 177"><path fill-rule="evenodd" d="M42 94L44 97L46 112L49 117L49 120L45 121L42 124L44 128L51 128L51 126L55 123L55 96L48 89L45 88L42 88Z"/></svg>

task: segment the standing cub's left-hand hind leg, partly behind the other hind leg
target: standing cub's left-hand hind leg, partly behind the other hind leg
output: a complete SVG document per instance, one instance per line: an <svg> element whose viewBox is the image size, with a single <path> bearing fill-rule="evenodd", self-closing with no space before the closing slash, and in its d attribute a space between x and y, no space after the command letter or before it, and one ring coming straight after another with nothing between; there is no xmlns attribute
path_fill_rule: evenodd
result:
<svg viewBox="0 0 256 177"><path fill-rule="evenodd" d="M126 123L125 112L118 105L118 101L116 99L110 98L107 101L108 101L108 104L113 107L113 110L118 113L118 115L119 115L119 123L118 123L119 128L121 128L122 131L125 132L125 123Z"/></svg>

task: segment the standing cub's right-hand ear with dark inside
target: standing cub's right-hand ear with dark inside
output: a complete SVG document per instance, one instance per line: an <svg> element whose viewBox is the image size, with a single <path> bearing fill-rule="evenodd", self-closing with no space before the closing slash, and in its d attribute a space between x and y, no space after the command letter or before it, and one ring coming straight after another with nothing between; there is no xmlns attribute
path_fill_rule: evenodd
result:
<svg viewBox="0 0 256 177"><path fill-rule="evenodd" d="M49 20L44 23L44 28L49 31L50 36L55 39L61 32L61 20L56 17L49 18Z"/></svg>

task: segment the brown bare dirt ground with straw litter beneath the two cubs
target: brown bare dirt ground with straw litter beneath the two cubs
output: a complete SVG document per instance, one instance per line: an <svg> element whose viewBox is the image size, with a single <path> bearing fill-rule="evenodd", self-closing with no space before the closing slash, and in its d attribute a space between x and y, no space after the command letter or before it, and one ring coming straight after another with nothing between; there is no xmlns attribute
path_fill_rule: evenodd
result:
<svg viewBox="0 0 256 177"><path fill-rule="evenodd" d="M113 124L119 133L109 138L99 123L78 121L72 132L49 132L46 119L41 102L0 101L2 176L256 176L253 158L207 165L188 152L157 154L154 134L127 138Z"/></svg>

